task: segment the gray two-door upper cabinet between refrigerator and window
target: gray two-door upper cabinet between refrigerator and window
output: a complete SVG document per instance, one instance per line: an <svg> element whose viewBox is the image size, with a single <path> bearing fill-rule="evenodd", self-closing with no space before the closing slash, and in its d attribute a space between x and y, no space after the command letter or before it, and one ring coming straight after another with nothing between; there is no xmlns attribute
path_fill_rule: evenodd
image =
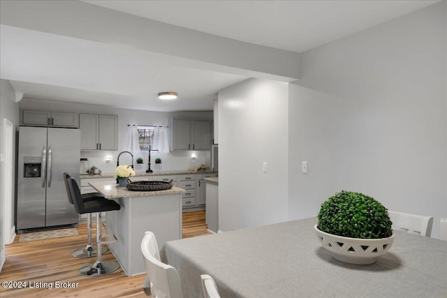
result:
<svg viewBox="0 0 447 298"><path fill-rule="evenodd" d="M80 114L81 150L117 150L118 116Z"/></svg>

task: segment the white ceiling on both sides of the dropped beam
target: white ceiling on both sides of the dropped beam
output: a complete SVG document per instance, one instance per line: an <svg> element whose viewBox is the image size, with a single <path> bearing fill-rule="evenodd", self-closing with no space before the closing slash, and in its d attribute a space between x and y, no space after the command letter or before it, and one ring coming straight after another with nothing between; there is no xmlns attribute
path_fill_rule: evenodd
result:
<svg viewBox="0 0 447 298"><path fill-rule="evenodd" d="M85 1L248 43L302 52L437 1ZM161 54L1 25L1 78L24 98L138 110L212 110L219 89L247 79ZM179 98L161 101L160 91Z"/></svg>

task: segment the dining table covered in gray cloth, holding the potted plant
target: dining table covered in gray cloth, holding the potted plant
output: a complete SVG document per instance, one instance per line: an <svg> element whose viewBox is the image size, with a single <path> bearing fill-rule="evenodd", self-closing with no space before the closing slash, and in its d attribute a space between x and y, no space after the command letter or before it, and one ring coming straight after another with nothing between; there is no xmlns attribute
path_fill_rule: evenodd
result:
<svg viewBox="0 0 447 298"><path fill-rule="evenodd" d="M332 258L317 218L167 241L161 260L177 269L184 297L203 297L201 274L221 297L447 297L447 241L395 232L372 265Z"/></svg>

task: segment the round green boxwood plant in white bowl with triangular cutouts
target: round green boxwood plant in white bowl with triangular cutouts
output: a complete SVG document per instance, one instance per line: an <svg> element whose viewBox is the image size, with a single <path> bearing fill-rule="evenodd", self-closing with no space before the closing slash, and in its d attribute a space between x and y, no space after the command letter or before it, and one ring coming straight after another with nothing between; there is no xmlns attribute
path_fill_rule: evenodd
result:
<svg viewBox="0 0 447 298"><path fill-rule="evenodd" d="M336 260L369 265L394 241L388 210L367 195L342 191L325 200L318 212L316 234Z"/></svg>

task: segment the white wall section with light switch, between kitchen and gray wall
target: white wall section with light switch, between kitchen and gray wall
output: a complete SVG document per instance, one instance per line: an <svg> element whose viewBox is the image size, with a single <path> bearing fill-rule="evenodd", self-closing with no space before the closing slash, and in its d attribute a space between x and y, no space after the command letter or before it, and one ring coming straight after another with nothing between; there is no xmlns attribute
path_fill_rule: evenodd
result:
<svg viewBox="0 0 447 298"><path fill-rule="evenodd" d="M286 221L288 84L245 80L219 91L218 104L219 230Z"/></svg>

